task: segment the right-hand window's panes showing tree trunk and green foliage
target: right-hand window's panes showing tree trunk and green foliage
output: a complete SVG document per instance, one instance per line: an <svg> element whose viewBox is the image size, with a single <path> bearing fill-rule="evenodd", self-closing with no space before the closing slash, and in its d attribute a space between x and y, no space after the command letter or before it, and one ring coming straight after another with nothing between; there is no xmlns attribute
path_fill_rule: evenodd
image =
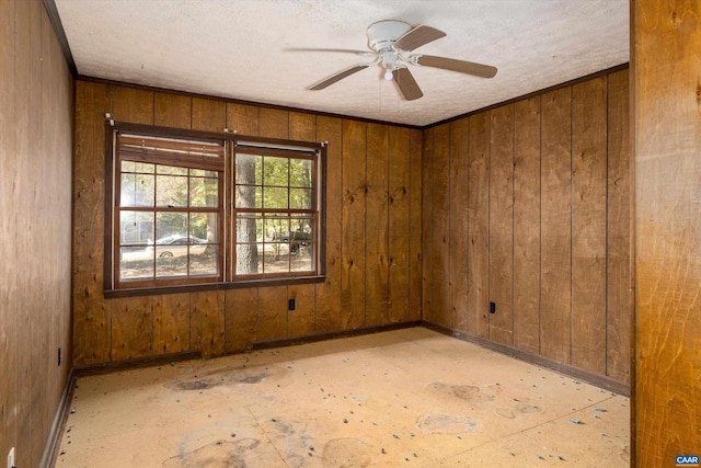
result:
<svg viewBox="0 0 701 468"><path fill-rule="evenodd" d="M314 173L311 157L237 152L237 275L314 270Z"/></svg>

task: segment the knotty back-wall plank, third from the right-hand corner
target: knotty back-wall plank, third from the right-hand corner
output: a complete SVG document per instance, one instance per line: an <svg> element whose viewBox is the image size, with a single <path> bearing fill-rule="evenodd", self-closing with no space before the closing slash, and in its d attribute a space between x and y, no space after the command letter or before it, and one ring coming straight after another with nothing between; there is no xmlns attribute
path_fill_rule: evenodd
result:
<svg viewBox="0 0 701 468"><path fill-rule="evenodd" d="M367 125L365 324L387 323L389 311L389 129Z"/></svg>

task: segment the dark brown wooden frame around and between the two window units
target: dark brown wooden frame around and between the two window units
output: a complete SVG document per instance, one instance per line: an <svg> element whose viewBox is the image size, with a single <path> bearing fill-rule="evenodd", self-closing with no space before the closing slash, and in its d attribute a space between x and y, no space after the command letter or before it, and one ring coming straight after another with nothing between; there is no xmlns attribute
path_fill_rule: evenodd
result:
<svg viewBox="0 0 701 468"><path fill-rule="evenodd" d="M129 124L107 119L105 123L105 220L104 220L104 278L103 294L106 298L130 297L151 294L169 294L196 290L230 289L242 287L262 287L285 284L319 283L325 279L325 168L326 142L311 142L243 136L229 133L188 130L142 124ZM219 172L219 255L218 277L182 277L177 279L119 281L119 207L118 187L120 183L120 161L117 148L118 135L140 135L154 138L171 138L223 145L223 169ZM237 148L245 151L265 151L266 153L285 155L289 158L312 158L312 184L315 199L315 240L313 252L313 271L288 272L285 274L235 273L235 155ZM147 162L147 161L143 161ZM149 162L152 163L152 162ZM211 170L211 169L207 169ZM148 208L151 209L151 208ZM157 207L152 208L158 210ZM280 210L278 210L280 212ZM285 212L285 210L281 210ZM156 242L156 239L153 240ZM154 246L156 248L156 246Z"/></svg>

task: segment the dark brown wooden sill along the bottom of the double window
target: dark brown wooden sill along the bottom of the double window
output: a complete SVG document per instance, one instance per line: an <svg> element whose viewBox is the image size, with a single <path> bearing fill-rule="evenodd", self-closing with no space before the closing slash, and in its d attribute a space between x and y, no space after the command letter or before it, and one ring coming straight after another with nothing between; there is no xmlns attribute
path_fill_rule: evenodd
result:
<svg viewBox="0 0 701 468"><path fill-rule="evenodd" d="M183 286L159 286L159 287L138 287L124 289L105 289L103 294L105 299L117 299L120 297L138 297L138 296L158 296L163 294L182 294L182 293L199 293L205 290L227 290L242 289L249 287L271 287L271 286L290 286L298 284L323 283L325 275L304 276L297 278L265 278L265 279L246 279L227 283L202 283Z"/></svg>

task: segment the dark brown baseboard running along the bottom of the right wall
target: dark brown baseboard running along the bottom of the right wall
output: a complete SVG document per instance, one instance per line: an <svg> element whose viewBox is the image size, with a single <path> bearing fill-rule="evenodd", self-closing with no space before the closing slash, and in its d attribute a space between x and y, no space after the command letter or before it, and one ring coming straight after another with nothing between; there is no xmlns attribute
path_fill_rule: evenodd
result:
<svg viewBox="0 0 701 468"><path fill-rule="evenodd" d="M510 357L515 357L519 361L524 361L529 364L535 364L540 367L545 367L556 373L564 374L566 376L574 377L579 380L586 381L588 384L595 385L597 387L604 388L606 390L612 391L614 393L623 395L625 397L631 396L630 385L612 379L611 377L602 376L591 370L583 369L568 364L563 364L558 361L551 359L549 357L543 357L536 353L530 353L528 351L518 350L516 347L507 346L505 344L495 343L493 341L486 340L481 336L474 336L468 333L463 333L463 332L451 330L441 326L437 326L435 323L430 323L427 321L422 321L421 324L422 327L428 330L434 330L434 331L437 331L438 333L446 334L448 336L453 336L462 341L474 343L478 346L481 346L491 351L495 351L497 353L505 354Z"/></svg>

